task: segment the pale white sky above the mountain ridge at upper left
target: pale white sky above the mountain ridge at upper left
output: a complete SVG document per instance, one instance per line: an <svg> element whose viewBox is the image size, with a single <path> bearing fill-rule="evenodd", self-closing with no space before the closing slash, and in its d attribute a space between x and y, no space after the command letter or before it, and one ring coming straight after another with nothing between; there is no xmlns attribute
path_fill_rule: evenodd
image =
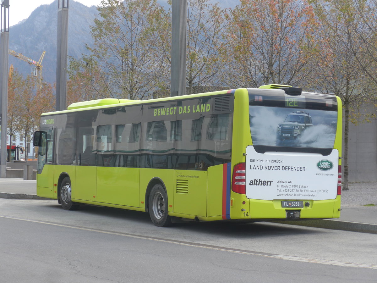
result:
<svg viewBox="0 0 377 283"><path fill-rule="evenodd" d="M13 26L25 18L28 18L32 11L44 4L51 4L54 0L9 0L9 26ZM101 0L75 0L90 7L99 5ZM58 9L58 5L56 6Z"/></svg>

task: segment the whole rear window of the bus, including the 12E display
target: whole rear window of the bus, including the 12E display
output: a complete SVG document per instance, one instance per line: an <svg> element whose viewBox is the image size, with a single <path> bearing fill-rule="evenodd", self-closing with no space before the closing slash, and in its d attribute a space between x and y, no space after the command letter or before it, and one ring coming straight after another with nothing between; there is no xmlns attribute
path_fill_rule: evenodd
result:
<svg viewBox="0 0 377 283"><path fill-rule="evenodd" d="M313 94L293 97L294 100L287 100L285 96L284 92L280 99L279 94L274 95L272 103L269 103L268 95L250 100L253 145L333 148L337 128L336 100L318 96L314 101ZM310 99L305 99L308 96Z"/></svg>

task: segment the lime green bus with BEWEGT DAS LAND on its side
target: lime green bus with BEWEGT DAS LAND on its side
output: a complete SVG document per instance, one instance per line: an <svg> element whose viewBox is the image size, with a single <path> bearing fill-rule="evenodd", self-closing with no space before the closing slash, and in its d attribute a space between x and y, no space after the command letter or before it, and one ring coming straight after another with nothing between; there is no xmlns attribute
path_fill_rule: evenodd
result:
<svg viewBox="0 0 377 283"><path fill-rule="evenodd" d="M37 194L175 218L338 218L342 103L285 85L43 113Z"/></svg>

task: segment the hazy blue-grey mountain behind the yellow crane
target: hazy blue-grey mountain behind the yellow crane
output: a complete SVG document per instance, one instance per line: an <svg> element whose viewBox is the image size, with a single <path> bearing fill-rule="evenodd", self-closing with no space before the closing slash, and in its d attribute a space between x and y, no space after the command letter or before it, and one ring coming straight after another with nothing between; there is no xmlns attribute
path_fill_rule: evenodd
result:
<svg viewBox="0 0 377 283"><path fill-rule="evenodd" d="M56 80L56 42L57 42L58 1L36 8L29 18L9 28L9 49L38 61L42 52L43 79L54 83ZM87 7L69 1L68 12L68 55L80 58L88 54L85 44L92 45L90 25L98 15L95 6ZM9 55L9 65L13 65L24 75L30 74L28 63Z"/></svg>

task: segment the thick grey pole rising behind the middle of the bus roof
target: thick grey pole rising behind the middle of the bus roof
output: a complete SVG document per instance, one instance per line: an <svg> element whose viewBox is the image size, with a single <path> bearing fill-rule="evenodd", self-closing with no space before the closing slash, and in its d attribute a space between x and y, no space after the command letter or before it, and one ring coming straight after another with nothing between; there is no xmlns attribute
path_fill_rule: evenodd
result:
<svg viewBox="0 0 377 283"><path fill-rule="evenodd" d="M172 69L170 96L186 94L187 0L172 1Z"/></svg>

